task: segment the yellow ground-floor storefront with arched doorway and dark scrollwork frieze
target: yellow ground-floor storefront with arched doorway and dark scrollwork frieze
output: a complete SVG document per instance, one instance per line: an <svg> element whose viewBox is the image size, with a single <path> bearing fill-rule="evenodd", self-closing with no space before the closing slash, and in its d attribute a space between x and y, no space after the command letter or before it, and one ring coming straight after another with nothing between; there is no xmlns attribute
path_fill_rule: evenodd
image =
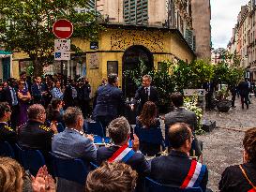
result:
<svg viewBox="0 0 256 192"><path fill-rule="evenodd" d="M107 25L105 31L100 33L98 50L90 50L90 42L86 40L73 39L73 43L86 53L86 77L94 91L110 72L118 72L119 84L122 86L126 54L132 50L148 55L148 62L155 68L163 61L181 59L189 63L195 59L186 40L174 29ZM132 54L129 56L132 57Z"/></svg>

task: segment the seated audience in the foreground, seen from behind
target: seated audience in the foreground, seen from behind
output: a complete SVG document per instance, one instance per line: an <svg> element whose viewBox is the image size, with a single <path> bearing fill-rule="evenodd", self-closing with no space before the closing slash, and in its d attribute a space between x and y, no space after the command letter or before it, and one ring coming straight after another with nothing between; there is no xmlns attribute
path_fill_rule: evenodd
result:
<svg viewBox="0 0 256 192"><path fill-rule="evenodd" d="M176 96L180 97L180 96ZM86 165L95 163L98 169L89 172L86 184L80 185L58 178L55 185L46 167L38 170L36 178L30 183L34 191L137 191L143 192L143 178L150 177L162 185L172 185L179 188L201 187L207 189L208 170L205 165L190 158L189 151L194 140L193 128L183 122L172 123L167 128L166 140L169 140L171 152L147 161L140 152L140 140L130 132L130 125L125 117L118 117L108 126L112 143L97 147L92 135L83 133L83 112L77 107L68 107L60 114L61 102L53 100L53 109L65 124L65 130L58 132L52 123L45 126L46 111L40 104L28 108L28 120L17 131L8 126L11 107L8 103L0 103L0 141L17 142L21 147L38 149L46 159L48 169L51 169L49 152L63 159L80 158ZM53 110L52 110L53 111ZM181 109L176 112L182 111ZM192 115L191 115L192 116ZM156 107L154 103L146 102L143 113L137 118L139 128L159 128ZM148 120L148 121L147 121ZM169 121L166 115L165 121ZM129 147L131 140L131 147ZM1 144L1 143L0 143ZM256 128L249 129L243 140L244 164L227 168L219 182L221 192L255 191L256 181ZM143 148L142 148L143 149ZM23 168L11 158L0 158L0 187L9 191L23 191ZM13 170L8 170L13 169ZM15 174L9 181L9 175ZM38 178L38 179L37 179ZM14 181L15 180L15 181ZM17 181L16 181L17 180ZM43 186L38 186L40 180ZM239 182L238 182L239 181ZM38 184L39 183L39 184ZM8 188L9 187L9 188ZM14 187L14 188L13 188ZM37 189L41 187L41 189Z"/></svg>

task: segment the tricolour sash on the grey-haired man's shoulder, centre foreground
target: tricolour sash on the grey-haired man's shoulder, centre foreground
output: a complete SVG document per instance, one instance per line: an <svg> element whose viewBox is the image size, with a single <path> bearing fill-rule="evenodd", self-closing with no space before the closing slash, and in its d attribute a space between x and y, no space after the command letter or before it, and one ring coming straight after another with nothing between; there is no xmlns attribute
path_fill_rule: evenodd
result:
<svg viewBox="0 0 256 192"><path fill-rule="evenodd" d="M114 154L112 157L109 158L109 162L115 162L115 161L121 161L126 163L128 161L128 159L134 155L135 152L131 149L128 148L128 145L123 145L122 147L120 147Z"/></svg>

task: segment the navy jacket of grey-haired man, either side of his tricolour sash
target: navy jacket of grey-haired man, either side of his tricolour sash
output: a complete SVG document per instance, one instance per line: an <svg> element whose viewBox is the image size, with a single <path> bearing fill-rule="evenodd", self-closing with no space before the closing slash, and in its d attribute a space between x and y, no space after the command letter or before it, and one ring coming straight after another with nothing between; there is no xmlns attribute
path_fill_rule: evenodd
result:
<svg viewBox="0 0 256 192"><path fill-rule="evenodd" d="M108 160L118 149L119 146L99 147L97 151L98 165ZM150 171L150 166L143 154L135 153L128 159L127 164L140 175L147 175Z"/></svg>

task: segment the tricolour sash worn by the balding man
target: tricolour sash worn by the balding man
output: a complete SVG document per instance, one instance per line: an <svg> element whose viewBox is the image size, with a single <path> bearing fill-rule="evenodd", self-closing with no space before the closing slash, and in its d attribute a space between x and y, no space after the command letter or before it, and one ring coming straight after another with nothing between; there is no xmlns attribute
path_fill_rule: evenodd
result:
<svg viewBox="0 0 256 192"><path fill-rule="evenodd" d="M202 165L196 160L192 160L188 175L180 188L191 188L199 186L203 180L205 170L205 165Z"/></svg>

